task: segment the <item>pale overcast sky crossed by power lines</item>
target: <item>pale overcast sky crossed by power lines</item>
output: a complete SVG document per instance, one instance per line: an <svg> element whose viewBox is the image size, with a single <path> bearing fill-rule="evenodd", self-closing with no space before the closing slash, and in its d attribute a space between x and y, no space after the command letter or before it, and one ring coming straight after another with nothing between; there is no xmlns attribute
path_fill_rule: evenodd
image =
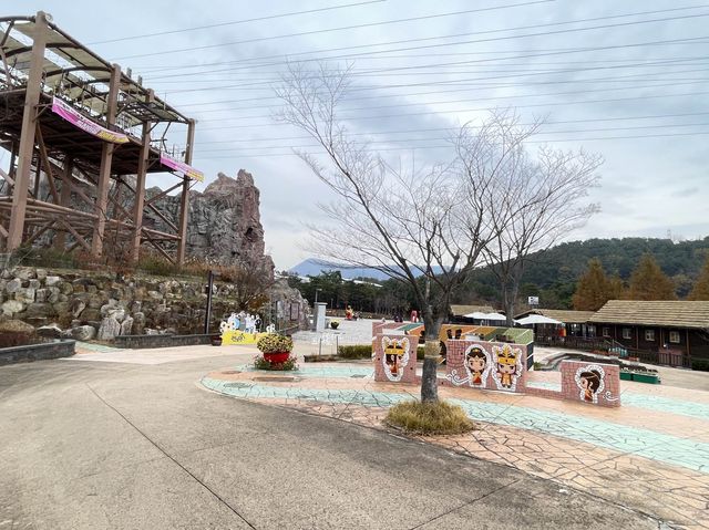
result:
<svg viewBox="0 0 709 530"><path fill-rule="evenodd" d="M528 148L603 155L600 214L566 239L709 235L709 3L700 0L14 0L197 119L204 186L251 173L278 270L309 257L328 190L274 121L286 64L349 64L347 125L391 160L446 163L490 108L544 118ZM7 3L3 11L8 11ZM205 28L206 27L206 28ZM156 34L157 33L157 34ZM2 160L0 160L1 163ZM152 177L147 185L166 184Z"/></svg>

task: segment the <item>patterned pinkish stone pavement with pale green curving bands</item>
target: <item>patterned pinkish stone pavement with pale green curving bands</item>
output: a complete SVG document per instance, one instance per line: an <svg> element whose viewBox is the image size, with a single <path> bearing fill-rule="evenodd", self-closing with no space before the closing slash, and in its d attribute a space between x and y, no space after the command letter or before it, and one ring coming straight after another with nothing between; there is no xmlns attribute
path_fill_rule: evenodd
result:
<svg viewBox="0 0 709 530"><path fill-rule="evenodd" d="M535 386L558 374L530 373ZM417 386L377 383L370 364L319 363L273 373L237 365L209 373L214 392L292 407L377 429L387 407L418 396ZM623 406L492 391L441 387L476 429L428 437L450 450L628 506L684 528L709 528L709 393L621 382ZM424 438L420 438L424 439Z"/></svg>

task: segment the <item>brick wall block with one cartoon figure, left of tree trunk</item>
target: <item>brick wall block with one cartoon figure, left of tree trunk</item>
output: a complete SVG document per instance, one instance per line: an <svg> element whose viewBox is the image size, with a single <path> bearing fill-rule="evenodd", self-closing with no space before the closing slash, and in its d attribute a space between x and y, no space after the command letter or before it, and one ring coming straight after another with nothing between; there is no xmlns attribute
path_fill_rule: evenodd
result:
<svg viewBox="0 0 709 530"><path fill-rule="evenodd" d="M404 335L374 336L374 381L415 383L417 341Z"/></svg>

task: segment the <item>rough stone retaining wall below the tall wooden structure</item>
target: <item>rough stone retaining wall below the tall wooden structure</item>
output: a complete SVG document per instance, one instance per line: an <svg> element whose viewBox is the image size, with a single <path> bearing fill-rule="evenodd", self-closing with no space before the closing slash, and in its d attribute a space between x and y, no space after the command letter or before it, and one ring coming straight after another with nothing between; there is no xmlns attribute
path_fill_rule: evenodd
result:
<svg viewBox="0 0 709 530"><path fill-rule="evenodd" d="M210 330L236 311L235 285L215 283ZM202 333L206 280L16 268L0 273L0 320L21 320L49 337L111 341L117 335ZM297 291L273 298L302 303ZM307 310L301 311L307 315ZM307 318L307 316L306 316ZM267 322L264 315L264 322ZM295 322L296 325L299 322Z"/></svg>

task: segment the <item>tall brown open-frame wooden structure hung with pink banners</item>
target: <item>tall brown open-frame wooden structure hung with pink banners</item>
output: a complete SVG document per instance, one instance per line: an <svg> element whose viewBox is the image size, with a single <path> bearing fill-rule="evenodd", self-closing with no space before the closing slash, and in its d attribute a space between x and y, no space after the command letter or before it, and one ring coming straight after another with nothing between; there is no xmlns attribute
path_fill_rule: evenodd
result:
<svg viewBox="0 0 709 530"><path fill-rule="evenodd" d="M41 11L0 18L0 146L10 153L9 170L0 169L0 250L44 235L56 249L96 259L122 249L119 259L137 260L141 246L150 245L182 263L187 191L203 178L189 167L195 122ZM167 133L176 129L184 143L168 153ZM146 198L153 173L177 180ZM181 208L169 218L155 200L177 189ZM146 210L168 229L146 227Z"/></svg>

